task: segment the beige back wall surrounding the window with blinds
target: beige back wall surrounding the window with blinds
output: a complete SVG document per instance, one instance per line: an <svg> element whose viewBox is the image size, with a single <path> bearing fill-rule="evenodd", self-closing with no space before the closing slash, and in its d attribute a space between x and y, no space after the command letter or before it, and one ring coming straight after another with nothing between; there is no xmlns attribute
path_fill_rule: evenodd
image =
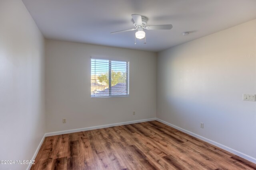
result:
<svg viewBox="0 0 256 170"><path fill-rule="evenodd" d="M130 60L129 97L90 97L92 55ZM46 40L47 132L154 117L156 53Z"/></svg>

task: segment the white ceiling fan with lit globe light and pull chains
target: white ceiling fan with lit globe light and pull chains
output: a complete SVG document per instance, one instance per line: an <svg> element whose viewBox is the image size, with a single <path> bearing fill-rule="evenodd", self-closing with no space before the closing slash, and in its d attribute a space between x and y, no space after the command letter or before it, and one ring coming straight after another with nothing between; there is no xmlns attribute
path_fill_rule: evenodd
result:
<svg viewBox="0 0 256 170"><path fill-rule="evenodd" d="M126 31L134 31L138 30L135 33L135 37L138 39L143 39L146 36L146 33L144 32L143 29L148 29L148 30L153 30L153 29L172 29L172 25L151 25L151 26L146 26L148 19L145 16L141 16L138 14L132 14L132 19L134 21L133 25L135 28L132 29L126 29L122 31L115 31L113 33L121 33L121 32L126 32ZM146 42L145 42L146 43ZM136 42L135 42L136 44Z"/></svg>

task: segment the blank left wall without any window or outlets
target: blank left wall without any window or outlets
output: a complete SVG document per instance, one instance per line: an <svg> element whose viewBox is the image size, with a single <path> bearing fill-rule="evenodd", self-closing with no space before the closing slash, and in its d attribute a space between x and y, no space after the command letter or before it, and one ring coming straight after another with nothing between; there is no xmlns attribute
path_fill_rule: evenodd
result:
<svg viewBox="0 0 256 170"><path fill-rule="evenodd" d="M32 159L46 131L44 84L44 37L21 0L1 0L0 160Z"/></svg>

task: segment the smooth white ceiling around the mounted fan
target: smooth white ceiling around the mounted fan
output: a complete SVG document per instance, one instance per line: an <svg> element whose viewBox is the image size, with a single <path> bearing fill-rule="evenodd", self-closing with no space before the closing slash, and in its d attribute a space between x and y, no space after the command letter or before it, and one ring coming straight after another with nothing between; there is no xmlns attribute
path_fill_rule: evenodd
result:
<svg viewBox="0 0 256 170"><path fill-rule="evenodd" d="M44 37L81 43L162 51L256 18L256 0L23 0ZM135 31L131 14L147 25L172 24L171 30ZM190 31L183 36L182 32Z"/></svg>

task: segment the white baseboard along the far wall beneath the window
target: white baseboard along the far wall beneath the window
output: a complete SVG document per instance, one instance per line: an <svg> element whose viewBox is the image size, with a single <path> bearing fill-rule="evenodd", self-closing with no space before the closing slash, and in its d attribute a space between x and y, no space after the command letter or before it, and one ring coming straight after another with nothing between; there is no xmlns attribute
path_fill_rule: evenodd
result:
<svg viewBox="0 0 256 170"><path fill-rule="evenodd" d="M62 135L62 134L67 134L67 133L74 133L74 132L81 132L81 131L90 131L90 130L94 130L94 129L101 129L101 128L106 128L106 127L120 126L120 125L128 125L128 124L133 124L133 123L140 123L140 122L154 121L154 120L156 120L156 118L142 119L142 120L135 120L135 121L126 121L126 122L121 122L121 123L113 123L113 124L109 124L109 125L85 127L85 128L72 129L72 130L67 130L67 131L58 131L58 132L46 133L45 136L48 137L48 136Z"/></svg>

